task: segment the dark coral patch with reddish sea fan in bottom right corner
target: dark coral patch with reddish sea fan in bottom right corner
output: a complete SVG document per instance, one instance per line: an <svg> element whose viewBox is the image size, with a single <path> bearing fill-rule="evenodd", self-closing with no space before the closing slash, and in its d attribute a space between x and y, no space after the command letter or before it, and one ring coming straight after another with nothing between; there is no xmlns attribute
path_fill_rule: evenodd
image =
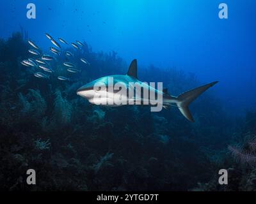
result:
<svg viewBox="0 0 256 204"><path fill-rule="evenodd" d="M256 113L246 113L245 122L240 124L236 133L232 136L232 145L228 145L225 155L219 157L219 166L216 170L225 168L228 170L228 185L218 185L216 180L198 185L193 190L200 191L256 191ZM214 159L214 163L216 163ZM211 187L214 186L212 189Z"/></svg>

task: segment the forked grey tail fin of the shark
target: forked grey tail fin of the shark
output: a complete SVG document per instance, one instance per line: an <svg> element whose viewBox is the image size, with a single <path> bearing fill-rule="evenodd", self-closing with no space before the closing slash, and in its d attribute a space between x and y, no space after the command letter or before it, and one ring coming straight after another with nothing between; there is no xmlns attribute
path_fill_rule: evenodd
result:
<svg viewBox="0 0 256 204"><path fill-rule="evenodd" d="M191 91L184 92L180 94L177 98L177 106L179 107L180 112L191 122L195 122L191 112L189 111L189 104L194 101L200 94L204 91L217 84L218 82L212 82L211 84L203 85L202 87L198 87Z"/></svg>

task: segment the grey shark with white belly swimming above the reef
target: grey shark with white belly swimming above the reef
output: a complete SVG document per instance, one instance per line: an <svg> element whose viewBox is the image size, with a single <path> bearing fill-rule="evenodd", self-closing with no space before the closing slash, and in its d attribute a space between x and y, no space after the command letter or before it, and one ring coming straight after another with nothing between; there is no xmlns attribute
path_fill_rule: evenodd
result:
<svg viewBox="0 0 256 204"><path fill-rule="evenodd" d="M122 105L148 105L159 106L168 109L171 106L179 108L180 112L190 122L195 122L189 110L189 105L195 101L207 89L217 84L218 81L210 84L202 85L190 91L183 92L179 96L172 96L167 89L156 89L152 85L141 82L137 75L137 60L134 59L127 71L126 75L109 75L101 77L77 89L77 94L94 105L104 106L122 106ZM111 80L111 83L109 83ZM118 89L115 85L118 84ZM122 88L124 88L122 90ZM134 89L140 90L138 93L132 92ZM157 86L158 88L158 86ZM124 91L125 90L125 91ZM144 97L149 92L150 96ZM115 103L115 99L120 99L119 103Z"/></svg>

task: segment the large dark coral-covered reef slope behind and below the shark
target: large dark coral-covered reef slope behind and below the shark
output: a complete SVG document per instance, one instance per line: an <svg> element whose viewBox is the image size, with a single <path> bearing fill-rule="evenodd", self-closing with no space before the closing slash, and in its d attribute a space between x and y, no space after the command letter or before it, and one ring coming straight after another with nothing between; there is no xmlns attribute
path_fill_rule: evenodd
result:
<svg viewBox="0 0 256 204"><path fill-rule="evenodd" d="M210 93L191 107L195 124L175 108L152 113L148 107L94 106L77 97L76 89L104 75L125 73L127 64L115 52L96 53L86 44L77 55L85 56L90 67L70 75L61 66L65 59L57 57L53 77L46 80L20 64L29 57L24 38L28 34L0 40L1 190L187 191L198 183L204 190L216 190L218 186L206 183L220 163L234 168L236 179L242 177L240 168L226 164L227 156L219 154L232 143L234 126ZM74 63L81 63L78 59ZM70 81L57 80L59 74ZM163 82L173 95L199 84L195 75L174 68L150 66L140 68L139 75ZM247 123L253 132L252 121ZM254 142L247 149L251 154ZM233 154L247 162L245 150L233 148ZM28 168L36 170L36 186L26 185ZM247 174L246 189L253 189L253 172Z"/></svg>

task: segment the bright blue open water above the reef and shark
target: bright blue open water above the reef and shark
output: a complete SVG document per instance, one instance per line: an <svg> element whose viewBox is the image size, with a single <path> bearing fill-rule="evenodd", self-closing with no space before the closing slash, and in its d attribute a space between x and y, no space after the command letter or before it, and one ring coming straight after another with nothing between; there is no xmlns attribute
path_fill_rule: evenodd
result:
<svg viewBox="0 0 256 204"><path fill-rule="evenodd" d="M216 94L232 112L256 105L256 1L232 0L228 19L218 18L223 1L14 1L0 2L0 37L20 25L41 47L44 33L67 41L85 40L93 50L115 50L127 63L176 67L196 73L202 83L220 80ZM26 5L36 4L36 19ZM147 79L143 79L147 80Z"/></svg>

